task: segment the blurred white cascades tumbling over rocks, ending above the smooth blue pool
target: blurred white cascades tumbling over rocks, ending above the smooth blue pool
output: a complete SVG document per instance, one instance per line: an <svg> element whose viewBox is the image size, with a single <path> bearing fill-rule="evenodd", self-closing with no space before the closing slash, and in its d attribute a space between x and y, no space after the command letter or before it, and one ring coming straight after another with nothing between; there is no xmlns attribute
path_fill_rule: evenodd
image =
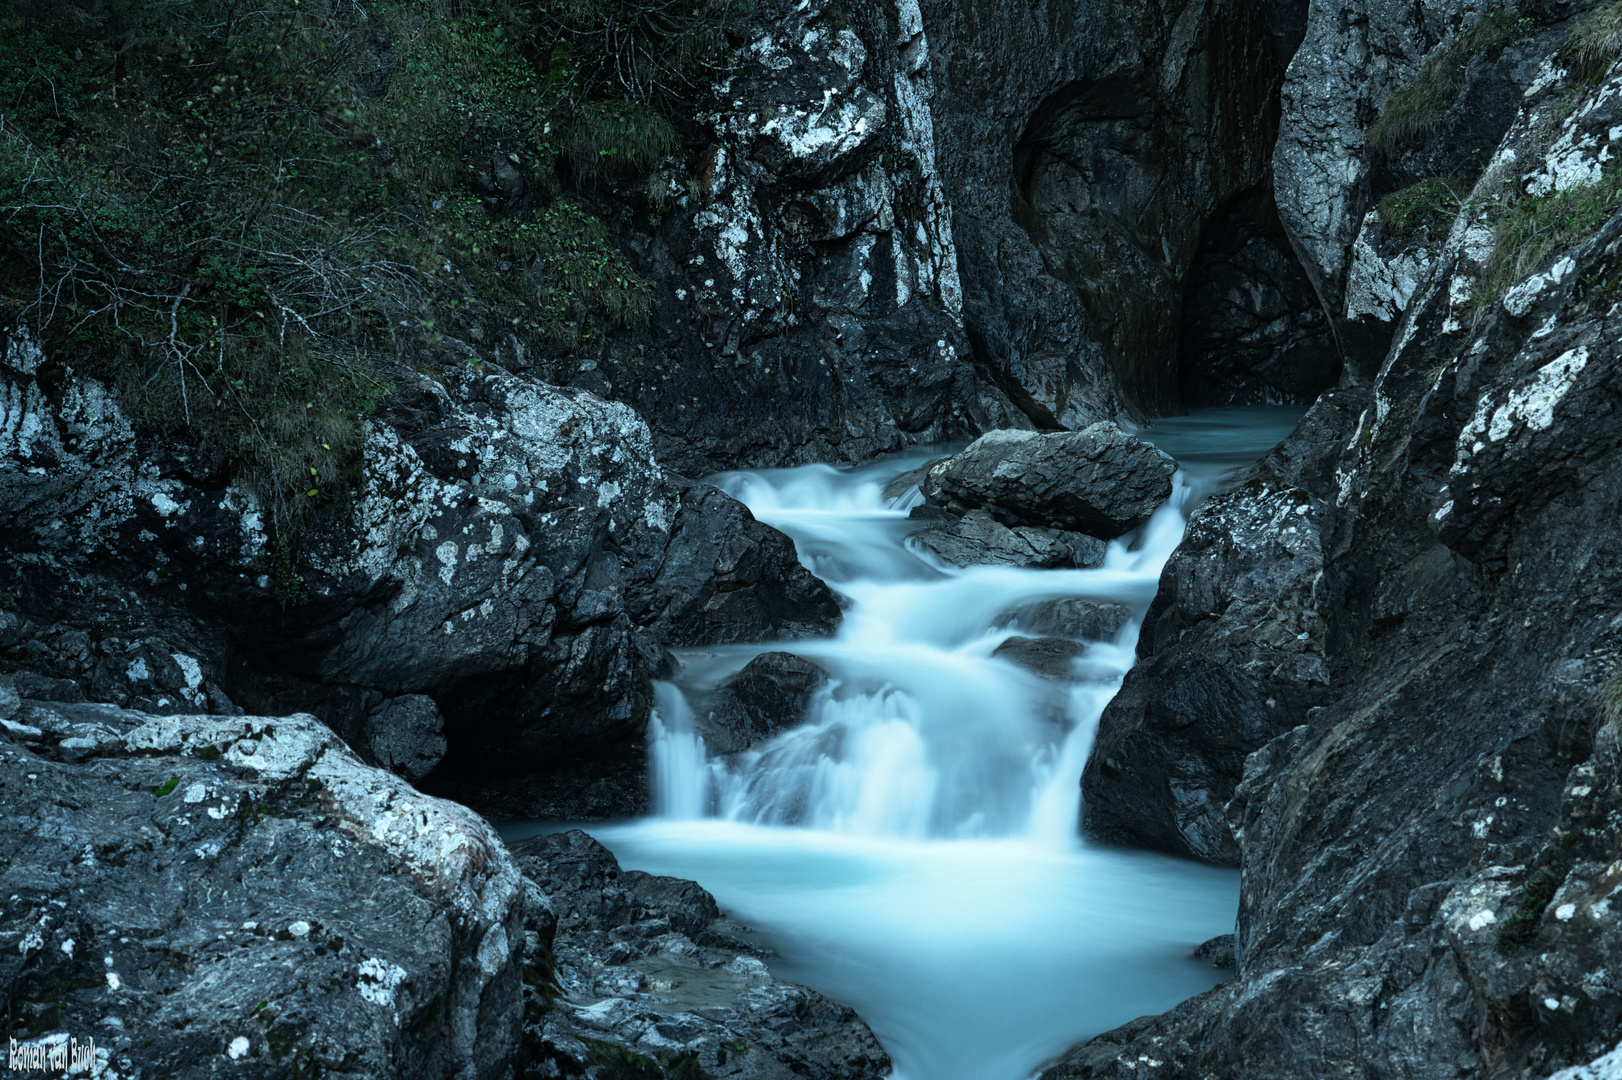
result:
<svg viewBox="0 0 1622 1080"><path fill-rule="evenodd" d="M1134 662L1160 571L1182 538L1191 483L1137 532L1113 542L1098 569L1015 569L936 563L908 546L916 488L886 499L886 482L920 464L736 472L714 482L788 534L805 564L848 600L839 636L785 642L829 673L803 723L727 759L707 759L696 699L761 644L684 686L659 684L652 722L655 804L665 817L712 816L897 838L1032 837L1071 842L1079 777L1103 707ZM1043 603L1119 603L1131 621L1090 641L1071 679L999 658Z"/></svg>

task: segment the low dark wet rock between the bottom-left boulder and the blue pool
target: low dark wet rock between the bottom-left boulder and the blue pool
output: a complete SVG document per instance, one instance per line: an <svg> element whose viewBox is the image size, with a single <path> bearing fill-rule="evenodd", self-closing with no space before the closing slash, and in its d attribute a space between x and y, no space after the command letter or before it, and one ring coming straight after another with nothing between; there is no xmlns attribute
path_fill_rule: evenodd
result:
<svg viewBox="0 0 1622 1080"><path fill-rule="evenodd" d="M889 1074L850 1009L772 978L770 954L699 885L621 871L579 830L513 853L550 898L526 934L521 1077L577 1075L615 1059L672 1078Z"/></svg>

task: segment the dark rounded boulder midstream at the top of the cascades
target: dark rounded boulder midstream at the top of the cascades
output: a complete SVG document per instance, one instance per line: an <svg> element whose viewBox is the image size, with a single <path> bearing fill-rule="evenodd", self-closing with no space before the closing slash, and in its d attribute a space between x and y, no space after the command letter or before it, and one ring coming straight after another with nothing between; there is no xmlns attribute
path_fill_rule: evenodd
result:
<svg viewBox="0 0 1622 1080"><path fill-rule="evenodd" d="M955 512L996 508L1011 524L1113 540L1171 496L1176 469L1109 422L1080 431L991 431L929 469L923 493Z"/></svg>

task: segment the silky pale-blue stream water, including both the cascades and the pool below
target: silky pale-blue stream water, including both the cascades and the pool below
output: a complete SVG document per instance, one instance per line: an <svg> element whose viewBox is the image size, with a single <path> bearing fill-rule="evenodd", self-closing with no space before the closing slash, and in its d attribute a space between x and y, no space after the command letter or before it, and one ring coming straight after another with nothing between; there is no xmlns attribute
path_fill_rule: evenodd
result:
<svg viewBox="0 0 1622 1080"><path fill-rule="evenodd" d="M900 1080L1025 1080L1066 1046L1212 986L1189 952L1233 929L1236 874L1077 834L1098 717L1194 499L1299 410L1207 410L1142 436L1178 457L1171 499L1090 571L955 569L907 535L941 454L712 482L788 534L848 602L829 641L684 654L657 688L659 817L590 827L628 868L689 877L759 929L774 970L853 1005ZM1043 602L1124 603L1069 681L993 657ZM805 722L712 759L689 702L769 649L829 673Z"/></svg>

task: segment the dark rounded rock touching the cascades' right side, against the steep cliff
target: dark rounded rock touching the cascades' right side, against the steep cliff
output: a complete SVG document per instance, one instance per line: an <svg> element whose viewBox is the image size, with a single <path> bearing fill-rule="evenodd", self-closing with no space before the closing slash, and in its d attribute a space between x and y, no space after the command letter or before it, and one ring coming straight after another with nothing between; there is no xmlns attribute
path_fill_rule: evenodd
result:
<svg viewBox="0 0 1622 1080"><path fill-rule="evenodd" d="M1082 774L1088 835L1239 861L1223 808L1246 756L1332 697L1319 587L1335 491L1286 459L1333 461L1366 401L1320 401L1286 439L1291 449L1189 521L1144 619L1140 662L1098 722Z"/></svg>

